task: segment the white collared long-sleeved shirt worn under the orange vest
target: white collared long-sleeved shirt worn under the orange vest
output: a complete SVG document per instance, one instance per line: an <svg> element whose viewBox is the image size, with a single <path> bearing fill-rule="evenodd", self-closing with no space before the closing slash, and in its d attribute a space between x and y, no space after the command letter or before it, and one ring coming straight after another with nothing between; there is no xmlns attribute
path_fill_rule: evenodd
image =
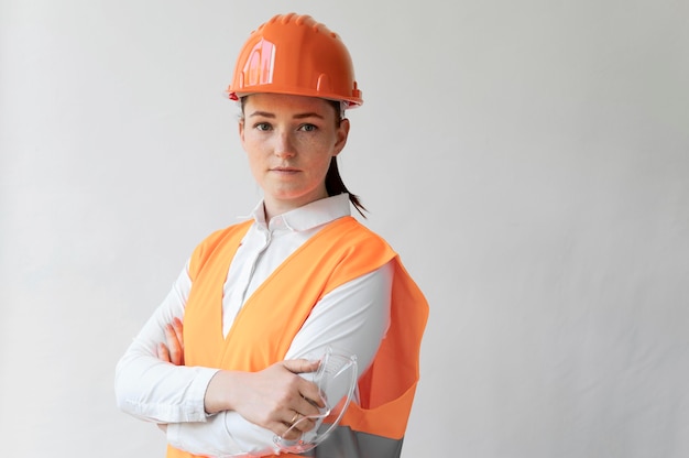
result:
<svg viewBox="0 0 689 458"><path fill-rule="evenodd" d="M328 222L350 215L341 194L305 205L265 221L263 203L242 239L223 286L222 328L227 335L237 313L267 276ZM118 363L116 394L123 411L167 423L171 445L210 456L242 456L275 450L273 433L236 412L208 416L204 396L214 368L175 367L156 357L164 327L184 317L192 288L187 266ZM286 359L318 359L327 347L356 355L360 373L371 363L390 319L393 269L390 263L354 279L322 297L294 338Z"/></svg>

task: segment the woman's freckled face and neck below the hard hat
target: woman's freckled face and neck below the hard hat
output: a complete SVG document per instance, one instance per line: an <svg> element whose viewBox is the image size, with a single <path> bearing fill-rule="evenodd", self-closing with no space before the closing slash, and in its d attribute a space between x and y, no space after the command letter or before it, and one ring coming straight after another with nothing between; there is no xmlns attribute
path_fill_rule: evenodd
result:
<svg viewBox="0 0 689 458"><path fill-rule="evenodd" d="M263 188L267 218L328 196L326 173L349 133L349 121L338 123L337 115L315 97L247 97L239 135Z"/></svg>

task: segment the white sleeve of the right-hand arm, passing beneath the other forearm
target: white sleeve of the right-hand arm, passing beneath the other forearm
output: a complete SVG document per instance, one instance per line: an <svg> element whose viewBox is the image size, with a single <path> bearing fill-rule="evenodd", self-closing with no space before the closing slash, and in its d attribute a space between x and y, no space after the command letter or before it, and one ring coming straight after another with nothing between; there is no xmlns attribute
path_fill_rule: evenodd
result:
<svg viewBox="0 0 689 458"><path fill-rule="evenodd" d="M389 325L392 276L389 263L324 296L293 340L286 359L317 359L330 347L356 355L359 373L364 372ZM337 400L346 393L326 394ZM205 423L171 424L167 439L174 447L199 455L261 456L276 451L272 432L236 412L222 412Z"/></svg>

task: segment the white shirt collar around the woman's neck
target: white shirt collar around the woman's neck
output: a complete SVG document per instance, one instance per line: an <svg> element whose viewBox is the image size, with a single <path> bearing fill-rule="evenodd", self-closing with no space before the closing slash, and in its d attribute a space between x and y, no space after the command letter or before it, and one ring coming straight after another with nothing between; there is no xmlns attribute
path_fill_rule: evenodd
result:
<svg viewBox="0 0 689 458"><path fill-rule="evenodd" d="M344 216L350 216L349 194L338 194L311 201L294 210L277 215L271 219L271 225L282 221L284 226L293 231L303 231L325 225ZM263 199L251 211L253 218L260 226L266 227L265 211L263 210Z"/></svg>

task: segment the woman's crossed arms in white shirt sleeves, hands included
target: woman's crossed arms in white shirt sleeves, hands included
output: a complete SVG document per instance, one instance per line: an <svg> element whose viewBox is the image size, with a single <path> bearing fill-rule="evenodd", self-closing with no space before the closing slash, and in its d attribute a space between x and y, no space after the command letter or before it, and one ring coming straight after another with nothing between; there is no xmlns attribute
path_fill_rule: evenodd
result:
<svg viewBox="0 0 689 458"><path fill-rule="evenodd" d="M387 326L392 272L384 265L325 296L285 361L254 373L176 366L184 362L181 332L188 286L179 284L188 276L183 272L183 281L118 364L118 403L134 416L166 424L168 443L194 454L273 454L274 435L284 434L297 413L317 411L311 402L319 405L318 390L307 380L318 367L314 359L330 346L357 355L361 373L372 361Z"/></svg>

